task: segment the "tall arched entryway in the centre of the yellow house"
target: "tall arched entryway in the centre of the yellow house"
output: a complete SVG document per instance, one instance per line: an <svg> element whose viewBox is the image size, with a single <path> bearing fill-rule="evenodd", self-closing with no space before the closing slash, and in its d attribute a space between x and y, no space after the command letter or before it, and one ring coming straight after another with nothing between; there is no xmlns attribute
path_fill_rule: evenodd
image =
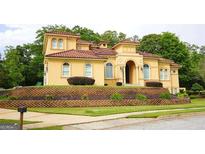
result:
<svg viewBox="0 0 205 154"><path fill-rule="evenodd" d="M134 84L135 83L136 67L135 67L135 63L131 60L126 63L125 77L126 77L127 84Z"/></svg>

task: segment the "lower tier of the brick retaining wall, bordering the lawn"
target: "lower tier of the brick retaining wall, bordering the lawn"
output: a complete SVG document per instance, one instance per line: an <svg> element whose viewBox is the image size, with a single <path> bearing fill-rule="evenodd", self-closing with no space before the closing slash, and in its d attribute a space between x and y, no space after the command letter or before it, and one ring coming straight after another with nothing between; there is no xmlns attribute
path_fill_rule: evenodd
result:
<svg viewBox="0 0 205 154"><path fill-rule="evenodd" d="M113 100L9 100L0 101L0 108L17 108L20 105L27 107L106 107L106 106L137 106L137 105L171 105L190 103L190 99L149 99L147 102L126 99Z"/></svg>

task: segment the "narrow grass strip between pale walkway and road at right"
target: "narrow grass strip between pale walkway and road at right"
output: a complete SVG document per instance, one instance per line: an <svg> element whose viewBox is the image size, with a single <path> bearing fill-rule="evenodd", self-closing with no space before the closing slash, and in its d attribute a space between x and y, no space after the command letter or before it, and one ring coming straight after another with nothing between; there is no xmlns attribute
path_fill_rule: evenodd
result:
<svg viewBox="0 0 205 154"><path fill-rule="evenodd" d="M160 116L168 116L168 115L181 115L185 113L193 113L193 112L205 112L205 108L201 109L186 109L186 110L177 110L177 111L166 111L166 112L154 112L154 113L144 113L139 115L131 115L127 118L158 118Z"/></svg>

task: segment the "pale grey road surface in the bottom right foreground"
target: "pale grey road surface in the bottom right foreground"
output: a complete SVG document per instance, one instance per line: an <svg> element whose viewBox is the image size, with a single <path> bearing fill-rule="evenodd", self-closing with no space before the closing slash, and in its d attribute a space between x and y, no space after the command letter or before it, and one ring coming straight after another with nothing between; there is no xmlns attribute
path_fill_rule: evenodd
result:
<svg viewBox="0 0 205 154"><path fill-rule="evenodd" d="M64 129L84 130L205 130L205 113L157 119L122 118L69 125Z"/></svg>

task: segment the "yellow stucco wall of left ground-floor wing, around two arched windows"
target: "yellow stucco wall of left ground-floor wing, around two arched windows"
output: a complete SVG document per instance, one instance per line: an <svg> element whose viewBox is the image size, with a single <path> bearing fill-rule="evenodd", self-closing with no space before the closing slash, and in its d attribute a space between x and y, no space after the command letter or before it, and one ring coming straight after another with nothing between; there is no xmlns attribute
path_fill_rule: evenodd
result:
<svg viewBox="0 0 205 154"><path fill-rule="evenodd" d="M70 76L85 76L85 64L91 64L95 85L104 85L104 61L46 58L47 85L68 85L67 77L62 77L62 65L65 62L70 64Z"/></svg>

